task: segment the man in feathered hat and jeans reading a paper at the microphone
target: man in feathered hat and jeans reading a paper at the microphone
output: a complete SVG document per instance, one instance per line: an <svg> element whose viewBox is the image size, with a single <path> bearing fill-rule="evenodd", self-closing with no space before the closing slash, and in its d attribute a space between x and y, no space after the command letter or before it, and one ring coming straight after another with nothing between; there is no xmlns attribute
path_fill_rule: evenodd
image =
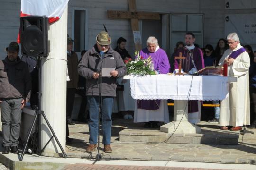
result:
<svg viewBox="0 0 256 170"><path fill-rule="evenodd" d="M89 146L86 152L93 152L96 149L98 126L99 126L99 72L101 68L113 68L109 75L102 77L102 132L103 151L111 153L111 114L113 97L116 96L117 78L126 75L125 64L118 52L111 46L111 39L107 32L101 31L96 37L96 44L87 51L78 64L78 73L86 78L86 95L89 104Z"/></svg>

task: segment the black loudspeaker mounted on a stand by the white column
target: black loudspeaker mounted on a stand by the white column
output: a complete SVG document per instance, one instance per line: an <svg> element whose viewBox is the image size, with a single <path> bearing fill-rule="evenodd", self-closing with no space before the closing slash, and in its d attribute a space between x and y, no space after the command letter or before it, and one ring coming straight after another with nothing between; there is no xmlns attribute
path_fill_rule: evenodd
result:
<svg viewBox="0 0 256 170"><path fill-rule="evenodd" d="M21 54L47 57L48 49L48 17L20 17Z"/></svg>

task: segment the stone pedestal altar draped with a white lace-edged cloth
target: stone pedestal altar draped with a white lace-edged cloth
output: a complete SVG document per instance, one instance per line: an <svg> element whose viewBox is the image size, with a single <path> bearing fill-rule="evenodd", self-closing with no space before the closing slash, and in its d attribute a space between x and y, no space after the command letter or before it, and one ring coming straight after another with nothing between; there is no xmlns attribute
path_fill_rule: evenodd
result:
<svg viewBox="0 0 256 170"><path fill-rule="evenodd" d="M223 100L229 92L230 81L236 77L225 76L126 76L130 79L134 99L173 99L174 121L160 127L168 135L200 133L201 128L188 122L189 100Z"/></svg>

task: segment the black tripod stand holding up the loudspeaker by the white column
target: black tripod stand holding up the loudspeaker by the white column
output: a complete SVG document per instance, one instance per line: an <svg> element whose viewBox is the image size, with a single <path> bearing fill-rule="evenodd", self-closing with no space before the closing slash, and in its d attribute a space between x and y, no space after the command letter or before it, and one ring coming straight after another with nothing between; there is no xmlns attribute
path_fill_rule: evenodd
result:
<svg viewBox="0 0 256 170"><path fill-rule="evenodd" d="M49 127L49 129L50 129L50 131L51 131L51 133L52 133L52 135L53 135L53 136L49 139L49 141L46 143L46 145L43 147L43 149L40 151L40 153L42 153L42 152L45 150L47 144L49 144L50 141L52 140L52 138L54 137L55 140L56 140L56 142L57 142L57 144L59 145L59 147L60 147L60 149L61 149L61 152L62 152L62 154L63 154L63 157L64 157L64 158L67 158L67 155L66 155L64 149L62 148L62 146L61 146L61 144L60 144L60 142L59 142L57 136L55 135L52 126L50 125L48 119L46 118L46 115L45 115L44 111L41 110L41 94L42 94L42 93L41 93L41 71L42 71L42 67L41 67L41 57L38 57L37 59L39 59L39 63L38 63L38 91L39 91L39 92L38 92L38 108L35 110L35 117L34 117L34 120L33 120L32 125L31 125L31 127L30 127L30 130L29 130L29 133L28 133L28 136L27 136L27 141L26 141L26 144L25 144L25 146L24 146L24 148L23 148L23 151L22 151L22 154L21 154L19 160L20 160L20 161L23 160L23 156L24 156L24 154L25 154L25 152L26 152L27 144L28 144L28 141L29 141L29 139L30 139L32 130L33 130L35 124L36 124L36 120L37 120L38 115L42 115L42 116L43 116L43 118L44 118L45 121L46 121L46 124L48 125L48 127Z"/></svg>

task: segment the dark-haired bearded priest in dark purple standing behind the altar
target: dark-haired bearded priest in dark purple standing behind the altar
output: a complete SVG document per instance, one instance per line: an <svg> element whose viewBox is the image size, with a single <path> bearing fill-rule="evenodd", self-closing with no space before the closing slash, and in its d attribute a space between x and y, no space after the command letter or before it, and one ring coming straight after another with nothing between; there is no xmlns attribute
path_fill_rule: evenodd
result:
<svg viewBox="0 0 256 170"><path fill-rule="evenodd" d="M184 72L193 73L195 68L192 61L194 61L196 69L200 70L204 68L203 53L200 48L195 47L195 35L192 32L188 32L185 35L186 46L184 49L179 49L176 51L175 56L179 56L179 53L182 53L182 56L186 59L182 60L182 69ZM175 59L174 68L179 68L179 60ZM200 122L201 117L201 102L200 101L189 101L188 104L188 121L191 123Z"/></svg>

